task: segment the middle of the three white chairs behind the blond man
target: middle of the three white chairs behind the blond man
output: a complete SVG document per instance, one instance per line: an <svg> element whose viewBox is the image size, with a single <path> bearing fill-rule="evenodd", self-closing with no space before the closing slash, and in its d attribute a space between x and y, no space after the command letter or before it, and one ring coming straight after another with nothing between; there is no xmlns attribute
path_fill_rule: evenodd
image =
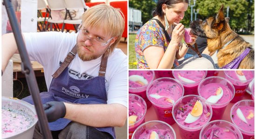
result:
<svg viewBox="0 0 256 139"><path fill-rule="evenodd" d="M51 13L52 13L52 11L65 10L66 9L65 3L63 0L47 0L47 3L49 6L49 9L50 9L49 16L51 18L51 19L48 19L47 26L48 26L48 23L50 23L50 31L52 31L52 29L53 29L52 24L54 24L54 28L55 29L58 28L60 31L60 27L58 24L62 24L64 22L64 19L58 19L58 20L52 19ZM57 27L55 25L57 25Z"/></svg>

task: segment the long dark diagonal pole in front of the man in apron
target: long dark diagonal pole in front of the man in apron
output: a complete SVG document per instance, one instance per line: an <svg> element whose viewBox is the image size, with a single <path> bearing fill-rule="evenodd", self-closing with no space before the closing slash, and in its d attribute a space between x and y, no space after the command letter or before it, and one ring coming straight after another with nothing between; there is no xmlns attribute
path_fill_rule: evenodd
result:
<svg viewBox="0 0 256 139"><path fill-rule="evenodd" d="M4 0L4 5L6 7L7 14L13 29L14 38L16 40L16 44L20 52L20 58L22 61L21 63L22 73L25 74L29 92L32 95L32 98L34 101L35 110L40 123L40 129L43 133L44 139L53 139L51 131L49 130L47 117L46 117L46 114L44 113L44 109L40 99L40 95L39 95L40 92L39 92L39 88L34 75L34 70L32 69L32 66L30 64L30 59L28 57L27 50L25 48L25 43L21 35L20 25L18 24L18 21L16 19L16 15L14 13L11 0Z"/></svg>

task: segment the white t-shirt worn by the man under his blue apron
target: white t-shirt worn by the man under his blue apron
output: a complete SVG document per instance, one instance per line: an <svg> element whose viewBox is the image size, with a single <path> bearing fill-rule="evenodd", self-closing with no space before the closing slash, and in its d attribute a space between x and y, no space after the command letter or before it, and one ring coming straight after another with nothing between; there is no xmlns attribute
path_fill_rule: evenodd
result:
<svg viewBox="0 0 256 139"><path fill-rule="evenodd" d="M38 32L23 33L30 60L37 61L44 68L47 89L53 79L52 75L76 44L77 33ZM68 65L72 70L69 75L75 79L86 80L99 75L101 57L82 61L78 55ZM105 74L108 104L119 103L127 107L127 56L120 50L108 56Z"/></svg>

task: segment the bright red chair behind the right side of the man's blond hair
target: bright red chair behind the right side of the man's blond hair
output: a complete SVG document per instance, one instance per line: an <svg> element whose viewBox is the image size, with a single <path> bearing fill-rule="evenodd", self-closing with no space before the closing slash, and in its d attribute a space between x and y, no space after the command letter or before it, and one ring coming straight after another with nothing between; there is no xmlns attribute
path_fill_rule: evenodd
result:
<svg viewBox="0 0 256 139"><path fill-rule="evenodd" d="M110 2L110 6L113 6L115 8L120 8L122 13L124 14L124 20L125 20L125 27L122 34L122 37L124 37L124 40L126 41L126 38L128 36L127 34L127 1L112 1Z"/></svg>

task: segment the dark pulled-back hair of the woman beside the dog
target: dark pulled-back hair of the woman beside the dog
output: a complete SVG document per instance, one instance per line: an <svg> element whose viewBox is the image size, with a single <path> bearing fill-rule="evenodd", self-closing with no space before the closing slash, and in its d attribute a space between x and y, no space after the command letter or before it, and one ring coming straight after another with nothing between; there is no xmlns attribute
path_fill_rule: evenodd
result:
<svg viewBox="0 0 256 139"><path fill-rule="evenodd" d="M159 16L161 20L164 19L164 13L162 12L162 5L166 4L169 8L174 7L174 4L186 2L189 3L189 0L158 0L156 9L153 11L153 17Z"/></svg>

